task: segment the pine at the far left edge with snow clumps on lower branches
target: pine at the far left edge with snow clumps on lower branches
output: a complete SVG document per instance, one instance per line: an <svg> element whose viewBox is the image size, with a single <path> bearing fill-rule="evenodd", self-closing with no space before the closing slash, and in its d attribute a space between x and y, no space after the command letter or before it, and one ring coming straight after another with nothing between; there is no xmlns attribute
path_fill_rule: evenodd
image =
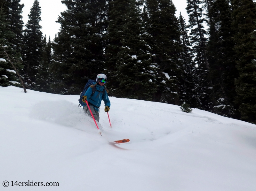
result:
<svg viewBox="0 0 256 191"><path fill-rule="evenodd" d="M20 86L20 80L15 75L16 72L10 61L15 64L17 70L22 70L20 53L17 52L8 41L8 39L14 38L15 34L10 30L10 24L5 18L8 13L7 5L6 1L0 1L0 86L3 87L8 85ZM10 60L8 60L5 51Z"/></svg>

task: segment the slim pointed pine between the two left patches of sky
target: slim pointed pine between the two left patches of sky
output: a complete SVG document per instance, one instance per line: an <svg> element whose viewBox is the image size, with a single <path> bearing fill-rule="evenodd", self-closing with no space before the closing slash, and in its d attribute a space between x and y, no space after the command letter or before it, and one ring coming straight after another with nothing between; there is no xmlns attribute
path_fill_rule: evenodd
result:
<svg viewBox="0 0 256 191"><path fill-rule="evenodd" d="M42 50L42 31L39 21L41 20L41 7L39 0L35 0L30 8L28 23L24 30L23 61L26 82L33 85L36 80L37 67L40 63Z"/></svg>

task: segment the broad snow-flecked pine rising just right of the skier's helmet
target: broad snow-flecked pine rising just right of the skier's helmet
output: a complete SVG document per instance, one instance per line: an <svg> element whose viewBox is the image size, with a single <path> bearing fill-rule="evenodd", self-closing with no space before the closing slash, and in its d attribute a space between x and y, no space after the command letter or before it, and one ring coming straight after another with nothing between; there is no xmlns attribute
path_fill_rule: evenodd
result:
<svg viewBox="0 0 256 191"><path fill-rule="evenodd" d="M145 41L139 5L135 0L115 0L109 4L107 67L110 95L152 100L156 91L156 65Z"/></svg>

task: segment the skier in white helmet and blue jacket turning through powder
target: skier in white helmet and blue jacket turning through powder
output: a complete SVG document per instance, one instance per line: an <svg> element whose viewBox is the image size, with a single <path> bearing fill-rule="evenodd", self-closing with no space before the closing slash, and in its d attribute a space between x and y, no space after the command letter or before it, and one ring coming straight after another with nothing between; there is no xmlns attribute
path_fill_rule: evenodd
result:
<svg viewBox="0 0 256 191"><path fill-rule="evenodd" d="M82 101L86 103L85 100L89 103L89 107L92 111L92 115L96 121L99 122L100 120L100 103L101 100L105 102L105 112L109 111L110 101L108 99L108 89L105 86L107 82L107 76L105 74L98 74L96 77L96 82L92 84L85 92L84 96L82 97ZM88 111L87 104L83 107L84 111ZM88 115L91 115L90 111Z"/></svg>

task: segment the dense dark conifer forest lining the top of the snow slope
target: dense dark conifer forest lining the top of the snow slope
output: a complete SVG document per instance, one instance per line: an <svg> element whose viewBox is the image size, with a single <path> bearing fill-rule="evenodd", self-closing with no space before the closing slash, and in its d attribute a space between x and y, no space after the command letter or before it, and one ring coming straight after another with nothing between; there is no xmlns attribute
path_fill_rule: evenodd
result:
<svg viewBox="0 0 256 191"><path fill-rule="evenodd" d="M46 37L40 0L27 24L20 0L0 0L0 86L22 87L22 79L27 89L79 95L104 73L109 96L185 102L256 124L253 0L187 0L188 22L172 0L62 4L60 30Z"/></svg>

